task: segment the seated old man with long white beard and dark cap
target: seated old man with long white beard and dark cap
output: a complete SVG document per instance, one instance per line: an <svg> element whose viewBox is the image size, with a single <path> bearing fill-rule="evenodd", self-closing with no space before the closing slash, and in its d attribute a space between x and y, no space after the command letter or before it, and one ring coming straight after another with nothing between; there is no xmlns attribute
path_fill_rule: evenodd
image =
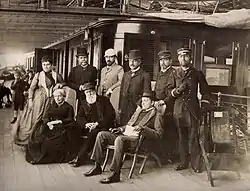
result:
<svg viewBox="0 0 250 191"><path fill-rule="evenodd" d="M97 134L114 127L115 120L115 111L109 99L97 95L93 84L84 84L82 90L86 99L82 101L76 122L87 139L76 158L69 162L73 167L80 166L87 159L88 153L95 144Z"/></svg>

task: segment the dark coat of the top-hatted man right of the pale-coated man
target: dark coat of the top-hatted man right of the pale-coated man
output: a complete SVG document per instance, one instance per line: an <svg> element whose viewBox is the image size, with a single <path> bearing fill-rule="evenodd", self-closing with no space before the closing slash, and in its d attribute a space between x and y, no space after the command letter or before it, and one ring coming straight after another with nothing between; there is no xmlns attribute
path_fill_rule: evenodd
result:
<svg viewBox="0 0 250 191"><path fill-rule="evenodd" d="M136 103L144 92L151 92L151 80L147 72L142 69L124 73L121 82L119 109L121 124L125 125L136 110Z"/></svg>

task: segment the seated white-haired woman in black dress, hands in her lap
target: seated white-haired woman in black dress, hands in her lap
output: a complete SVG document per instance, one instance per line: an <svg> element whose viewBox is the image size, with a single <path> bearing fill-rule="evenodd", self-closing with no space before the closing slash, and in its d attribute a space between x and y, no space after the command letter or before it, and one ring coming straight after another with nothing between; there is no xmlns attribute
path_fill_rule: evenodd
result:
<svg viewBox="0 0 250 191"><path fill-rule="evenodd" d="M65 102L65 96L63 89L56 89L53 92L55 102L35 125L26 149L29 163L68 162L70 156L75 155L80 129L74 121L74 109Z"/></svg>

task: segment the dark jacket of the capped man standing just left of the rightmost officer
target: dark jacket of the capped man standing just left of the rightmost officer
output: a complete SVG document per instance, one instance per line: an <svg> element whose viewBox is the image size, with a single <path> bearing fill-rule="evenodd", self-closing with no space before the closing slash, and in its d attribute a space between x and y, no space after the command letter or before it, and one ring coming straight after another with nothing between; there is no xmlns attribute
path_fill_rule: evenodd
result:
<svg viewBox="0 0 250 191"><path fill-rule="evenodd" d="M155 84L155 96L157 100L163 100L165 103L168 101L168 81L170 74L175 69L173 67L170 67L167 71L159 72L156 77L156 84ZM167 103L166 103L167 104ZM172 113L173 112L173 106L174 106L174 100L168 103L168 106L166 108L166 113Z"/></svg>

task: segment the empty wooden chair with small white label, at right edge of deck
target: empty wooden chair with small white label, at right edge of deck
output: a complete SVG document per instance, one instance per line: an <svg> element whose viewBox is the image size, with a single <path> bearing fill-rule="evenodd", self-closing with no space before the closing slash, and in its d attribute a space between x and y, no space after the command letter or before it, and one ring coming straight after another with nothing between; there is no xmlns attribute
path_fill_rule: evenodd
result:
<svg viewBox="0 0 250 191"><path fill-rule="evenodd" d="M230 108L217 106L212 111L205 113L203 123L200 127L200 147L202 157L205 162L208 180L210 185L214 186L212 177L212 168L215 170L235 171L240 177L239 169L241 168L241 160L243 155L238 152L237 128L234 124L234 114ZM207 146L207 137L211 137L211 147ZM245 154L247 153L246 140ZM217 152L217 145L226 144L232 147L232 152ZM215 162L219 160L234 161L234 165L216 166Z"/></svg>

